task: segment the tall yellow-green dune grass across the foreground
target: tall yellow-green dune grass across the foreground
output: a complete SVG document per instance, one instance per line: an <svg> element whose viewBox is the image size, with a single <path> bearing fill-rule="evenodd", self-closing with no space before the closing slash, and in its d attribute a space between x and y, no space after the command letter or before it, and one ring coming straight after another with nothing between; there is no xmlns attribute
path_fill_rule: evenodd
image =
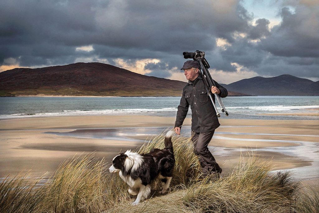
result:
<svg viewBox="0 0 319 213"><path fill-rule="evenodd" d="M0 212L319 212L319 190L302 187L289 173L272 173L270 162L243 159L221 178L201 178L190 138L173 137L176 166L170 192L159 195L162 183L152 184L151 197L131 206L136 196L109 164L94 153L63 162L44 185L26 175L0 182ZM164 134L136 151L164 147Z"/></svg>

